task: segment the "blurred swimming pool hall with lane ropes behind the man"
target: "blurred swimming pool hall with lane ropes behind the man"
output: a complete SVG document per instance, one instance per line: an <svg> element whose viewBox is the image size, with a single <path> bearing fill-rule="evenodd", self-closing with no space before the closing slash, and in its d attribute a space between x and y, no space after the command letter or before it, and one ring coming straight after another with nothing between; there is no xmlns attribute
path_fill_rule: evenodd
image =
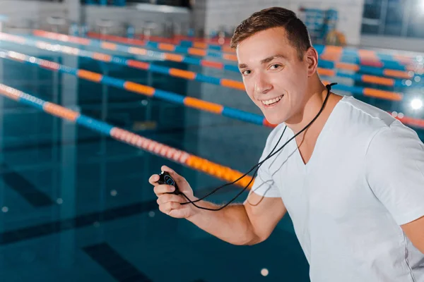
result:
<svg viewBox="0 0 424 282"><path fill-rule="evenodd" d="M290 216L230 245L148 184L165 164L201 197L257 163L272 127L228 44L271 6L304 20L334 92L423 140L424 0L0 0L1 281L309 281Z"/></svg>

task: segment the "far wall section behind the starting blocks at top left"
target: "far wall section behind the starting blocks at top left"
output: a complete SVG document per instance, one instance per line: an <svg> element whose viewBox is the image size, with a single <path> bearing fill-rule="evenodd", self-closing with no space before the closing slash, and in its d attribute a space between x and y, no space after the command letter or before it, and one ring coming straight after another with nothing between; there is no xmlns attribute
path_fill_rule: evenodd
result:
<svg viewBox="0 0 424 282"><path fill-rule="evenodd" d="M64 0L61 3L29 0L0 0L1 15L8 16L6 28L28 29L42 28L52 30L47 24L49 16L57 16L68 19L68 23L86 22L91 28L97 27L98 20L107 19L114 21L111 33L124 32L126 25L134 25L136 32L142 32L146 22L154 21L158 24L157 32L163 32L163 25L172 21L176 25L176 31L187 30L190 24L189 10L186 8L170 7L166 11L159 7L148 4L134 7L102 7L82 6L78 0ZM144 9L144 11L143 11ZM68 32L64 27L59 32Z"/></svg>

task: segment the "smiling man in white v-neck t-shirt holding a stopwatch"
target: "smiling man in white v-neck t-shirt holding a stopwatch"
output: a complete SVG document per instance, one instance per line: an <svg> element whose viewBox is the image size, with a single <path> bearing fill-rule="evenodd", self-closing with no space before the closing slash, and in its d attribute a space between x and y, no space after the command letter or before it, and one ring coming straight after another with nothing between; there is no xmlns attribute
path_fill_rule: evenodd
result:
<svg viewBox="0 0 424 282"><path fill-rule="evenodd" d="M235 30L247 94L267 120L261 161L319 113L327 89L317 51L292 11L268 8ZM151 176L160 211L235 245L269 237L286 212L313 282L424 281L424 145L386 112L329 92L307 130L259 168L244 204L198 209ZM286 128L287 127L287 128ZM192 188L163 166L190 200ZM257 204L259 203L259 204ZM199 201L201 207L218 205Z"/></svg>

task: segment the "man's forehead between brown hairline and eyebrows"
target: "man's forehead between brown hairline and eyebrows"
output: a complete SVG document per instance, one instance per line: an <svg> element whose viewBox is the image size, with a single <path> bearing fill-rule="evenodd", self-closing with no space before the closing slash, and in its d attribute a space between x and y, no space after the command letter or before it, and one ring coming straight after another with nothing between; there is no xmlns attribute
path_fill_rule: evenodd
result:
<svg viewBox="0 0 424 282"><path fill-rule="evenodd" d="M247 65L260 63L262 59L275 54L287 58L296 56L296 50L288 41L283 27L274 27L257 32L238 44L236 49L239 63Z"/></svg>

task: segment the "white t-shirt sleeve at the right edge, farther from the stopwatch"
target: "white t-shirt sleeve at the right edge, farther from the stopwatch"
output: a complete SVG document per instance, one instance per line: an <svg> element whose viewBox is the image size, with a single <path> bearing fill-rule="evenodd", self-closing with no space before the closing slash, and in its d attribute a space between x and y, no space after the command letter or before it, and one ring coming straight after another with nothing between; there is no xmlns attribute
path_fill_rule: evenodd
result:
<svg viewBox="0 0 424 282"><path fill-rule="evenodd" d="M424 216L424 145L399 121L372 138L366 154L367 181L399 225Z"/></svg>

